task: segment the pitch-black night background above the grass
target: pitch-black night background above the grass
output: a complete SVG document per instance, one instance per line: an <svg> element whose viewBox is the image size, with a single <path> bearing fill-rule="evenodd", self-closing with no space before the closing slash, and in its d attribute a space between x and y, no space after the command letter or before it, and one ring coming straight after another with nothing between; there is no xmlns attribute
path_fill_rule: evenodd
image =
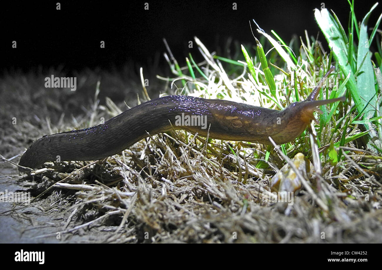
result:
<svg viewBox="0 0 382 270"><path fill-rule="evenodd" d="M345 0L149 1L149 10L144 10L145 2L63 1L61 10L56 10L57 1L2 3L1 68L27 72L61 65L67 71L110 70L128 61L150 65L155 54L163 64L163 38L183 61L194 36L211 51L223 47L228 37L254 43L249 21L255 19L265 32L273 29L288 42L292 34L304 36L305 29L317 36L314 8L321 3L335 11L345 30L350 11ZM232 10L233 2L237 10ZM355 3L358 21L374 3ZM379 5L373 11L370 27L381 10ZM253 23L252 27L255 31ZM17 49L11 48L13 40ZM100 40L105 49L100 49ZM320 40L324 41L322 34Z"/></svg>

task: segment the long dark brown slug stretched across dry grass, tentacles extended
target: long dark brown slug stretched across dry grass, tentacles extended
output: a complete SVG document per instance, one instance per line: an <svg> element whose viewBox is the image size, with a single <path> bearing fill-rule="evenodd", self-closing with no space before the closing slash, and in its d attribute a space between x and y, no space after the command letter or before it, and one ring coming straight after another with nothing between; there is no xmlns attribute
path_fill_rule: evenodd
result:
<svg viewBox="0 0 382 270"><path fill-rule="evenodd" d="M314 111L345 96L315 100L319 89L334 67L302 102L291 103L284 110L236 103L220 99L202 99L186 95L169 95L130 108L110 120L91 128L45 135L26 150L19 165L36 168L44 162L99 160L115 155L151 135L185 129L214 139L284 144L298 137ZM317 121L317 120L316 120ZM20 168L20 167L19 167ZM22 170L22 168L21 168Z"/></svg>

